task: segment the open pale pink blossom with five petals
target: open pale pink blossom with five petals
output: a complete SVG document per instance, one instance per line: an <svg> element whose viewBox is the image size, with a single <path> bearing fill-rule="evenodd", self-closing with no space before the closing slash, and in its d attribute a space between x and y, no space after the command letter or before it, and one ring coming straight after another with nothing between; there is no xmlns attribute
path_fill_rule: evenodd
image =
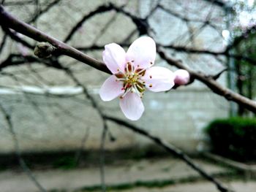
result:
<svg viewBox="0 0 256 192"><path fill-rule="evenodd" d="M149 91L168 91L174 85L174 74L169 69L153 66L156 44L151 37L140 37L125 53L116 43L105 45L103 61L113 73L100 88L103 101L120 98L120 107L129 120L138 120L144 112L141 99Z"/></svg>

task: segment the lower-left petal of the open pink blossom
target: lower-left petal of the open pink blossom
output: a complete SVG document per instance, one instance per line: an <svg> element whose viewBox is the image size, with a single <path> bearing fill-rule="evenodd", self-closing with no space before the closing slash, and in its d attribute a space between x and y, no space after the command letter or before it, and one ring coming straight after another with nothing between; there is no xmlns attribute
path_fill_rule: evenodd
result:
<svg viewBox="0 0 256 192"><path fill-rule="evenodd" d="M111 101L124 93L122 88L123 83L116 81L116 76L111 75L107 80L105 80L102 87L100 88L99 96L103 101Z"/></svg>

